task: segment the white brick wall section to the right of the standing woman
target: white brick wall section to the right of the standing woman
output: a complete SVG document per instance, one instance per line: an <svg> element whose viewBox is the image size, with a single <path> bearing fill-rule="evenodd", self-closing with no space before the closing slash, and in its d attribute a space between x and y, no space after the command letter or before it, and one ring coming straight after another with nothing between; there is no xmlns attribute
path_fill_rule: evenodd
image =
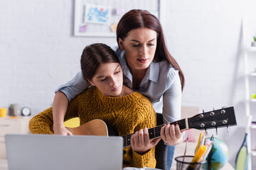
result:
<svg viewBox="0 0 256 170"><path fill-rule="evenodd" d="M231 127L229 135L225 128L219 129L216 136L228 145L231 164L235 162L245 134L241 21L242 16L246 16L255 23L255 10L252 9L255 2L253 3L254 5L252 1L169 1L163 19L169 50L178 60L186 77L183 106L198 106L201 111L222 106L235 107L238 126ZM256 35L256 27L254 34ZM252 34L245 43L249 44L251 41ZM209 132L215 135L215 130Z"/></svg>

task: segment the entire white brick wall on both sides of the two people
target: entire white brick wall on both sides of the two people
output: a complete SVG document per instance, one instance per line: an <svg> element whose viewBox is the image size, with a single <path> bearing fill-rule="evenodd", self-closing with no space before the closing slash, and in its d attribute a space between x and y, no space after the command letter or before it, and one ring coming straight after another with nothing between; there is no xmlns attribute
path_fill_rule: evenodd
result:
<svg viewBox="0 0 256 170"><path fill-rule="evenodd" d="M167 45L186 77L183 106L206 111L235 106L238 126L228 137L219 130L234 147L233 163L245 125L242 1L163 1ZM80 70L85 45L115 43L114 38L74 37L73 13L73 0L0 1L0 107L18 103L31 107L33 115L43 111L55 89Z"/></svg>

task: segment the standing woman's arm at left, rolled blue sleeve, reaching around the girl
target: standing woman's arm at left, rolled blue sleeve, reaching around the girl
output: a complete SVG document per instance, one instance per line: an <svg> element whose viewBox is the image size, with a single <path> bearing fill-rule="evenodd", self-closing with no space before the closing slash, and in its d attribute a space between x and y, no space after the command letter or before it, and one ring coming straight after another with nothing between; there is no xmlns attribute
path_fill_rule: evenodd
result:
<svg viewBox="0 0 256 170"><path fill-rule="evenodd" d="M58 87L53 100L53 129L54 134L72 135L72 133L64 127L64 116L68 108L68 101L87 89L90 85L82 77L82 72L78 72L75 77Z"/></svg>

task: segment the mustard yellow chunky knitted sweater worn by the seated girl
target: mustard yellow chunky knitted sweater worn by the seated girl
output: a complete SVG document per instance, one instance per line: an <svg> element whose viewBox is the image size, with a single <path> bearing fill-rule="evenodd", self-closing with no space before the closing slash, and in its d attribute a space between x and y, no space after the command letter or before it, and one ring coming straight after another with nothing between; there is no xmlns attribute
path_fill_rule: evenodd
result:
<svg viewBox="0 0 256 170"><path fill-rule="evenodd" d="M101 91L92 86L73 98L68 103L65 120L80 118L80 124L93 119L104 120L107 125L116 128L120 136L128 135L145 127L156 126L156 113L150 101L138 92L123 97L103 96ZM29 123L32 134L53 134L50 126L53 125L53 108L34 116ZM141 155L124 148L123 166L155 168L155 147Z"/></svg>

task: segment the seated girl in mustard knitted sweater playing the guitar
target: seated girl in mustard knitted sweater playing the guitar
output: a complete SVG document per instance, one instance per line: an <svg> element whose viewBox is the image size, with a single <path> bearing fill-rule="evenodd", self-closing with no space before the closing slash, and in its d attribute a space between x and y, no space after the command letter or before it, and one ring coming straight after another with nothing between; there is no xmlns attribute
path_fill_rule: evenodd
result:
<svg viewBox="0 0 256 170"><path fill-rule="evenodd" d="M140 134L156 126L156 114L150 101L138 92L123 85L122 68L114 51L104 44L85 47L81 57L81 69L84 79L92 86L68 103L64 120L79 117L80 124L93 119L102 119L117 129L119 135L129 135L131 146L126 147L123 166L155 168L154 146L160 138L144 145L149 134ZM53 134L53 109L33 117L29 129L33 134ZM147 128L145 128L147 127ZM137 131L137 132L136 132Z"/></svg>

